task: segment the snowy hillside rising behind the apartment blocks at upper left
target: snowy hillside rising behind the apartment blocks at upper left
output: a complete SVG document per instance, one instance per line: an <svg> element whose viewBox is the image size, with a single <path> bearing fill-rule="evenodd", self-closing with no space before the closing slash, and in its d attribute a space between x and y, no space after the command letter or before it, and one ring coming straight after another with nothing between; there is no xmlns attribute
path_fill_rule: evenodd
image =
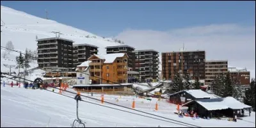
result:
<svg viewBox="0 0 256 128"><path fill-rule="evenodd" d="M113 42L111 38L102 38L81 29L60 24L54 20L35 17L6 6L1 6L1 20L4 22L4 24L1 22L1 46L12 41L15 49L21 51L25 51L26 48L36 50L36 36L38 38L55 37L56 34L53 32L60 32L61 38L73 40L74 44L97 45L100 54L106 53L106 46L121 45Z"/></svg>

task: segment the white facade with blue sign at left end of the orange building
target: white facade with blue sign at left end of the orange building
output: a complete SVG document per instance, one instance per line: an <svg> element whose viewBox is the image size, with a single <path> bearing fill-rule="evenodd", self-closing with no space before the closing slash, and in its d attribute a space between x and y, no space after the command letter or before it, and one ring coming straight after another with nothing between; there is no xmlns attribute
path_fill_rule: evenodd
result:
<svg viewBox="0 0 256 128"><path fill-rule="evenodd" d="M77 65L77 72L76 72L76 77L77 77L77 84L90 84L90 67L89 63L91 61L84 61L80 65Z"/></svg>

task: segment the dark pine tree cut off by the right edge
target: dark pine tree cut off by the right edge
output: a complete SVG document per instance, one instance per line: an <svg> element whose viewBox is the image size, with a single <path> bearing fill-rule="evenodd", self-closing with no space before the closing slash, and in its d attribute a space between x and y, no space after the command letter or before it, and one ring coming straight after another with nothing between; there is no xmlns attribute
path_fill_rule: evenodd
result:
<svg viewBox="0 0 256 128"><path fill-rule="evenodd" d="M244 104L252 106L255 111L255 79L252 79L250 88L245 91Z"/></svg>

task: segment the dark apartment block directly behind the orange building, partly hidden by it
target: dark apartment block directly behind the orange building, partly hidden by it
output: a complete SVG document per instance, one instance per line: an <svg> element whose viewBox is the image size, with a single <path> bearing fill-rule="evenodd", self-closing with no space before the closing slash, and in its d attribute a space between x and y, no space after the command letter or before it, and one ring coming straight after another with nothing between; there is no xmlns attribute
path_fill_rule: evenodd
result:
<svg viewBox="0 0 256 128"><path fill-rule="evenodd" d="M126 53L128 56L128 70L135 69L135 59L134 59L134 47L129 45L117 45L117 46L108 46L106 47L107 54L113 53Z"/></svg>

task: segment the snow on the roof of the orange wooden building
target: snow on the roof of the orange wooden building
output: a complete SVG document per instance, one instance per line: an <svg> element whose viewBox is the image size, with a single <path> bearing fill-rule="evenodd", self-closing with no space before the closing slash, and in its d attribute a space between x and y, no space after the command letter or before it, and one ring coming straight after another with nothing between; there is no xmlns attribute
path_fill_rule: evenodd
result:
<svg viewBox="0 0 256 128"><path fill-rule="evenodd" d="M125 53L112 53L112 54L94 54L97 58L104 59L104 63L113 63L116 58L122 58Z"/></svg>

